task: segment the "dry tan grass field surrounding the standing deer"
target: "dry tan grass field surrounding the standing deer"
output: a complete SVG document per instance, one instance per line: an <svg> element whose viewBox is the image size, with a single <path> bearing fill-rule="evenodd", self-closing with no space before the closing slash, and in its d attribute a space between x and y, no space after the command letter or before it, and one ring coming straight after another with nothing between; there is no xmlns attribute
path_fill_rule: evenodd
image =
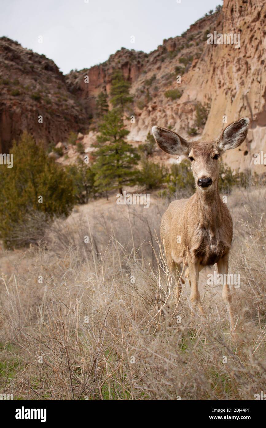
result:
<svg viewBox="0 0 266 428"><path fill-rule="evenodd" d="M207 285L206 272L206 317L191 317L186 287L175 307L156 235L160 199L150 208L96 201L54 223L38 247L3 251L0 392L30 400L253 400L266 382L265 196L260 188L228 198L230 271L241 274L232 290L235 342L220 287Z"/></svg>

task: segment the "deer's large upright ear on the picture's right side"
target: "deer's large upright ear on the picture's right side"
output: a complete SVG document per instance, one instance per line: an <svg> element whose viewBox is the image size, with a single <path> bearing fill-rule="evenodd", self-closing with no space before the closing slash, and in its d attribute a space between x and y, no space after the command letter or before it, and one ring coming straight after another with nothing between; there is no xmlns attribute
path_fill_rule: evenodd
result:
<svg viewBox="0 0 266 428"><path fill-rule="evenodd" d="M243 117L237 122L228 125L219 138L219 148L221 150L228 150L240 146L247 136L248 125L249 119L247 117Z"/></svg>

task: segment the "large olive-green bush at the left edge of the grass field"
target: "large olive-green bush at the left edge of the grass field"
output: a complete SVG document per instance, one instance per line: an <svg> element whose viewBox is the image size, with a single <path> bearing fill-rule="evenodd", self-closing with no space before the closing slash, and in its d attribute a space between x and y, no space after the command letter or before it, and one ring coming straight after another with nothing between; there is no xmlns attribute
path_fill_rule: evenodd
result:
<svg viewBox="0 0 266 428"><path fill-rule="evenodd" d="M44 219L48 221L70 213L73 188L63 167L49 158L29 134L23 133L10 153L13 167L0 167L0 238L6 247L14 248L36 241L32 217L41 215L38 225L35 221L38 239L41 239L45 232Z"/></svg>

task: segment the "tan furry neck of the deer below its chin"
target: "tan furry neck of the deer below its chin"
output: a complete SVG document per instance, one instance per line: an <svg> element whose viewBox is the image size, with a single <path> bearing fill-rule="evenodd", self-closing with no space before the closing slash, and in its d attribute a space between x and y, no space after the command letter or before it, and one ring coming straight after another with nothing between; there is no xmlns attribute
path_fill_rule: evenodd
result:
<svg viewBox="0 0 266 428"><path fill-rule="evenodd" d="M222 201L219 196L218 183L210 190L196 189L196 210L202 228L214 231L221 223Z"/></svg>

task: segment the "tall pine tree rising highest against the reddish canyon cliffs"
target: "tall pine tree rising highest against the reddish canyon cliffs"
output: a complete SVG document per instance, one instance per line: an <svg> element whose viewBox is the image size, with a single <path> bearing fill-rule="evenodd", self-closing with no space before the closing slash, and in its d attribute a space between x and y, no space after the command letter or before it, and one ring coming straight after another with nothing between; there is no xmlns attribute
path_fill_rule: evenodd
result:
<svg viewBox="0 0 266 428"><path fill-rule="evenodd" d="M133 102L133 98L129 95L130 82L124 79L123 73L120 70L115 70L111 77L111 103L114 107L120 107L122 110L127 104Z"/></svg>

